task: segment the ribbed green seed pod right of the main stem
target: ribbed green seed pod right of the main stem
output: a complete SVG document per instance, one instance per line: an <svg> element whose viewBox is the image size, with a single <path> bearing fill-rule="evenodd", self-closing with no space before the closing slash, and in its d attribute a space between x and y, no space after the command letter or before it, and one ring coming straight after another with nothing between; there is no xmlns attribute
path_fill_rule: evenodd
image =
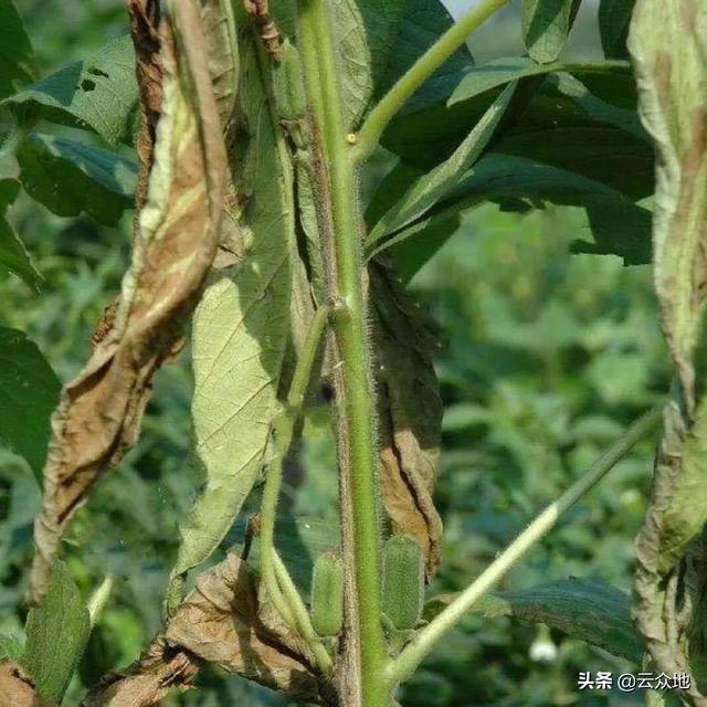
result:
<svg viewBox="0 0 707 707"><path fill-rule="evenodd" d="M388 538L383 548L383 613L395 629L414 629L422 615L422 550L409 535Z"/></svg>

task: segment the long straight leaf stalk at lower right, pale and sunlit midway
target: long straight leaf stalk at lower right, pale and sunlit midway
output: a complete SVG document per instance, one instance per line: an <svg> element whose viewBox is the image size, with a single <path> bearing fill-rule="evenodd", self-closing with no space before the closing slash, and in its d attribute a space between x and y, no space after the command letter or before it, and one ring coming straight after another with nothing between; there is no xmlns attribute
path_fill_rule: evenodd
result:
<svg viewBox="0 0 707 707"><path fill-rule="evenodd" d="M456 599L415 636L388 666L388 679L398 685L412 675L440 639L557 523L558 518L619 462L662 415L662 405L636 420L623 437L590 466L570 488L550 504Z"/></svg>

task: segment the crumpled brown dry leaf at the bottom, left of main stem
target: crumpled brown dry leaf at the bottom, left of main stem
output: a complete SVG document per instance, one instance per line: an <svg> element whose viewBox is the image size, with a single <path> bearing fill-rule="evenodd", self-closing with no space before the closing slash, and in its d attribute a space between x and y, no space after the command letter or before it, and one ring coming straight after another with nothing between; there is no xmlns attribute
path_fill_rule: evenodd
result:
<svg viewBox="0 0 707 707"><path fill-rule="evenodd" d="M148 707L171 686L192 684L203 661L293 699L328 704L329 688L266 599L264 588L234 555L204 572L159 636L126 674L114 675L84 707Z"/></svg>

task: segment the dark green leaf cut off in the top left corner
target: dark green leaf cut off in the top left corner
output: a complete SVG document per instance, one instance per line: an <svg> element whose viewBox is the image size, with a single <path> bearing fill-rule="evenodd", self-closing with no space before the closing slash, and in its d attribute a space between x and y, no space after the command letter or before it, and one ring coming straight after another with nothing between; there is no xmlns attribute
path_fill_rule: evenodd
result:
<svg viewBox="0 0 707 707"><path fill-rule="evenodd" d="M0 98L32 83L36 59L12 0L0 0Z"/></svg>

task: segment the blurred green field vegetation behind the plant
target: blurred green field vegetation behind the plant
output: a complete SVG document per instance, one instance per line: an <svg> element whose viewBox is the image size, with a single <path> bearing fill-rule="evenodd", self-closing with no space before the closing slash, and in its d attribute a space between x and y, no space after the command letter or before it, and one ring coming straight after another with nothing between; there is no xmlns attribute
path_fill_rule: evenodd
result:
<svg viewBox="0 0 707 707"><path fill-rule="evenodd" d="M46 72L126 31L124 8L115 0L19 4ZM574 46L591 44L589 20L576 29ZM515 28L508 20L496 28L498 53L515 46ZM2 276L0 324L25 331L66 381L81 369L93 328L119 287L129 257L129 214L120 228L109 229L54 217L21 198L9 217L46 283L38 296ZM462 589L667 389L650 268L570 255L569 243L582 236L581 222L571 209L525 215L479 209L411 283L441 344L436 367L445 404L436 494L444 550L430 595ZM96 676L133 662L159 627L178 527L200 483L190 453L190 387L187 352L159 372L137 447L103 478L71 525L66 556L84 594L108 571L117 583L67 704L76 704ZM574 507L504 580L504 589L581 577L630 591L632 538L646 504L654 442L644 440ZM325 410L313 410L304 478L288 489L289 513L333 517L334 460ZM21 633L38 504L29 467L0 450L0 632ZM238 535L230 540L238 541ZM637 704L637 696L577 689L579 671L600 669L637 667L559 632L469 615L400 701L405 707ZM200 685L163 705L286 704L218 671Z"/></svg>

